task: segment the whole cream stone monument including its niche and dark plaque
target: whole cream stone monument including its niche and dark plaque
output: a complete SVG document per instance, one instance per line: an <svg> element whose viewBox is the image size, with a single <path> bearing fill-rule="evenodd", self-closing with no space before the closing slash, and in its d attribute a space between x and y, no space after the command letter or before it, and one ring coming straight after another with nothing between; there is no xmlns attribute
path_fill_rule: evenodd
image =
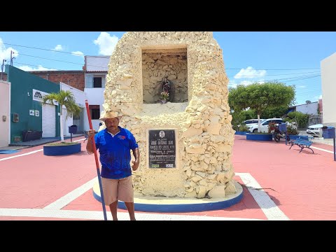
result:
<svg viewBox="0 0 336 252"><path fill-rule="evenodd" d="M135 196L237 192L228 78L212 32L125 33L111 55L103 107L123 114L120 126L139 144Z"/></svg>

